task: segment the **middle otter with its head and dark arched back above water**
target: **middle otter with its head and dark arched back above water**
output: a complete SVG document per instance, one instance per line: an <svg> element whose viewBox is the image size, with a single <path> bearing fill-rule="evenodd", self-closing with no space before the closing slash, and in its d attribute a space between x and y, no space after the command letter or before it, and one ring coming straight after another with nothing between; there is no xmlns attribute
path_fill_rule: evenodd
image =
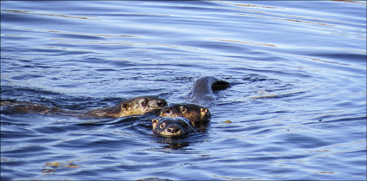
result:
<svg viewBox="0 0 367 181"><path fill-rule="evenodd" d="M162 117L185 117L195 128L205 126L210 122L209 109L199 104L208 104L216 100L213 90L222 90L230 87L230 83L216 76L204 76L195 81L191 88L190 99L197 103L178 103L165 106L161 110Z"/></svg>

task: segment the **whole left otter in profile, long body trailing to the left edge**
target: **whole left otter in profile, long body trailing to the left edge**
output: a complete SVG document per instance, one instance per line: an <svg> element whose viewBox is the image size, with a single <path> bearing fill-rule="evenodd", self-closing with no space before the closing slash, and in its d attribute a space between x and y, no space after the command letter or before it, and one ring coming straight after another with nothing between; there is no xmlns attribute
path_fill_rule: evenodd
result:
<svg viewBox="0 0 367 181"><path fill-rule="evenodd" d="M167 105L167 102L166 100L158 98L156 96L141 96L127 99L117 104L116 106L98 108L89 111L69 111L57 107L47 107L39 104L9 100L2 100L1 105L9 106L7 108L7 111L11 111L13 113L36 112L41 114L53 113L77 117L118 118L130 115L145 114L155 109L162 109L164 106Z"/></svg>

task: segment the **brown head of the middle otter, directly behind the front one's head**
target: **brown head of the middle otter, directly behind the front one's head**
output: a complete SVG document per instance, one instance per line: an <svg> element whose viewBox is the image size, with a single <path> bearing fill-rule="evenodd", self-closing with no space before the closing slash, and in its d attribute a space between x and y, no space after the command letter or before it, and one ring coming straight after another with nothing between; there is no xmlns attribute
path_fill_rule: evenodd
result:
<svg viewBox="0 0 367 181"><path fill-rule="evenodd" d="M171 104L161 110L162 117L186 117L195 126L195 122L212 118L209 109L191 103Z"/></svg>

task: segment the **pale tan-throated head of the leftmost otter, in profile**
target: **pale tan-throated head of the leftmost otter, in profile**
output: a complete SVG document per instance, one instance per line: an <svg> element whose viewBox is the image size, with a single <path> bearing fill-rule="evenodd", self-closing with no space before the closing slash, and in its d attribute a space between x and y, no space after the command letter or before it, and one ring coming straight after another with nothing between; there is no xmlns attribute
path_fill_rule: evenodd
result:
<svg viewBox="0 0 367 181"><path fill-rule="evenodd" d="M154 109L162 109L167 105L166 100L156 96L141 96L127 99L118 105L121 115L144 114Z"/></svg>

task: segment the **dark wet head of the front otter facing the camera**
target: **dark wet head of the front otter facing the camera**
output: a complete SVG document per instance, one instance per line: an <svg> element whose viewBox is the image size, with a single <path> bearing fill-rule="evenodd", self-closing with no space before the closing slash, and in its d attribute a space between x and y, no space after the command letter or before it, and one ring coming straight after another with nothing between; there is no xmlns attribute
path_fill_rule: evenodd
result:
<svg viewBox="0 0 367 181"><path fill-rule="evenodd" d="M159 120L153 119L153 133L166 136L183 136L194 132L189 119L185 117L162 117Z"/></svg>

